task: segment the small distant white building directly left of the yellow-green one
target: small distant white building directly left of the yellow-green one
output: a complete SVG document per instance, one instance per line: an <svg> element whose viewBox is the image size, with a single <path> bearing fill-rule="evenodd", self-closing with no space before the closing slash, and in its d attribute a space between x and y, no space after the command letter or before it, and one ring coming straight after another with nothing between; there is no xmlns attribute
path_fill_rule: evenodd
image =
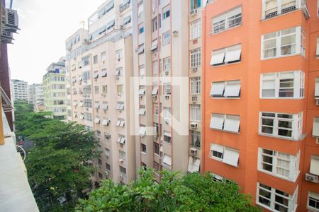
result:
<svg viewBox="0 0 319 212"><path fill-rule="evenodd" d="M34 105L35 111L44 110L43 83L29 85L28 102Z"/></svg>

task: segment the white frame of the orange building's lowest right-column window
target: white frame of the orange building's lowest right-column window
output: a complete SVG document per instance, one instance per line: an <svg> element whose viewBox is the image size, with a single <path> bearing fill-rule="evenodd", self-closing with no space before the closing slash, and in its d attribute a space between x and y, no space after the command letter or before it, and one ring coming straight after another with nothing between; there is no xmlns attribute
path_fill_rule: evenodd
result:
<svg viewBox="0 0 319 212"><path fill-rule="evenodd" d="M298 199L298 187L296 187L296 190L293 193L293 195L287 194L286 192L282 192L282 193L286 194L286 195L282 195L281 191L279 189L275 189L272 187L269 187L269 189L268 189L268 188L265 188L265 186L269 187L266 184L261 184L261 183L257 182L256 204L258 204L259 206L262 206L264 208L267 208L270 211L276 211L275 204L282 206L282 204L276 202L276 197L283 198L283 199L286 199L288 201L288 206L284 206L284 207L288 208L288 211L296 211L297 199ZM267 196L262 196L260 191L269 193L270 199ZM276 191L278 191L278 192L276 192ZM269 201L270 206L267 206L267 205L259 202L259 198L266 199L267 201Z"/></svg>

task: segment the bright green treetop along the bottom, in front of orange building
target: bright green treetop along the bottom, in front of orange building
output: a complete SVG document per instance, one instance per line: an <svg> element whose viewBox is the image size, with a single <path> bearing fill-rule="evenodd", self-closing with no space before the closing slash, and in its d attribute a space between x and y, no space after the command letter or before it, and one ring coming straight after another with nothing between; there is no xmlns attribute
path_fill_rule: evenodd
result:
<svg viewBox="0 0 319 212"><path fill-rule="evenodd" d="M153 170L140 170L129 185L104 181L89 199L79 199L79 211L261 211L234 183L215 182L199 175L162 172L159 183Z"/></svg>

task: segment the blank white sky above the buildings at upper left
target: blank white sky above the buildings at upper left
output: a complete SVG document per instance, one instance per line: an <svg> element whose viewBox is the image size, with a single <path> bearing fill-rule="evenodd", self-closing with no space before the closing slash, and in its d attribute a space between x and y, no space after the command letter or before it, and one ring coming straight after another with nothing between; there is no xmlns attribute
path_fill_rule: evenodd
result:
<svg viewBox="0 0 319 212"><path fill-rule="evenodd" d="M13 35L13 45L8 45L11 79L41 83L47 67L65 56L65 40L104 1L13 0L21 30Z"/></svg>

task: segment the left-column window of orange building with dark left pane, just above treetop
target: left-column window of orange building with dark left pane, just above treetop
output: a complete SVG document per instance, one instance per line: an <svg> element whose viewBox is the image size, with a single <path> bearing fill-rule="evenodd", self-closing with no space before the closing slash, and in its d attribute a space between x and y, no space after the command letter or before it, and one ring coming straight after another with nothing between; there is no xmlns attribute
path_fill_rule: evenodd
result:
<svg viewBox="0 0 319 212"><path fill-rule="evenodd" d="M220 146L216 143L211 143L211 158L220 160L228 165L238 166L239 152L233 148Z"/></svg>

